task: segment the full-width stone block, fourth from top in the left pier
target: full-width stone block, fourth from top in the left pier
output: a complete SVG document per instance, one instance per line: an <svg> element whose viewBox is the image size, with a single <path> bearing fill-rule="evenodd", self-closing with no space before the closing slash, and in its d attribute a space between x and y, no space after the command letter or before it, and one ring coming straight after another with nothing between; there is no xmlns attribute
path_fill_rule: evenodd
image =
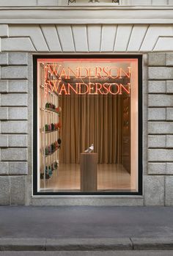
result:
<svg viewBox="0 0 173 256"><path fill-rule="evenodd" d="M25 93L7 93L1 95L1 106L27 106L28 96Z"/></svg>

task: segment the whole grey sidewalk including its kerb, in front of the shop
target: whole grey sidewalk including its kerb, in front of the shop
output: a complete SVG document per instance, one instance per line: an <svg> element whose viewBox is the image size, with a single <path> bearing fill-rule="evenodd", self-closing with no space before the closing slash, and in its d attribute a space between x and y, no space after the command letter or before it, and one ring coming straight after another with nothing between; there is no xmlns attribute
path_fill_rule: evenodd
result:
<svg viewBox="0 0 173 256"><path fill-rule="evenodd" d="M0 207L0 251L173 250L173 207Z"/></svg>

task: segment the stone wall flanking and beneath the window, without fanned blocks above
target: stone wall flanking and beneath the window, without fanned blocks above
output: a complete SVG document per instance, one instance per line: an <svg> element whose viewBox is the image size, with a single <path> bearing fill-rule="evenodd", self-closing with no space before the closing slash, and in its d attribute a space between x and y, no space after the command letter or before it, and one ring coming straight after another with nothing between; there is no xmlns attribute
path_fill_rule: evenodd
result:
<svg viewBox="0 0 173 256"><path fill-rule="evenodd" d="M32 54L0 59L0 205L173 205L172 53L144 56L144 197L32 199Z"/></svg>

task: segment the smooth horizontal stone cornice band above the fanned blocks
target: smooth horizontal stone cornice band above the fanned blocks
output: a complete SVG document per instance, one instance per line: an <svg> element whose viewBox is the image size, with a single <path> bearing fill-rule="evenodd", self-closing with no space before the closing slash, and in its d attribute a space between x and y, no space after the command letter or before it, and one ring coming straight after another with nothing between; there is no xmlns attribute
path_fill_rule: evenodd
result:
<svg viewBox="0 0 173 256"><path fill-rule="evenodd" d="M173 24L173 7L0 7L0 23Z"/></svg>

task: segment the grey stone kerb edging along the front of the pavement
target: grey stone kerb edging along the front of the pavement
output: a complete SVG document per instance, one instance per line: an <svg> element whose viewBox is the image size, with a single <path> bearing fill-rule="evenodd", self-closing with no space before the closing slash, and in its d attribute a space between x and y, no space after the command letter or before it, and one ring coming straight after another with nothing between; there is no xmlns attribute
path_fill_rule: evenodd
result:
<svg viewBox="0 0 173 256"><path fill-rule="evenodd" d="M172 238L0 238L0 251L173 250Z"/></svg>

